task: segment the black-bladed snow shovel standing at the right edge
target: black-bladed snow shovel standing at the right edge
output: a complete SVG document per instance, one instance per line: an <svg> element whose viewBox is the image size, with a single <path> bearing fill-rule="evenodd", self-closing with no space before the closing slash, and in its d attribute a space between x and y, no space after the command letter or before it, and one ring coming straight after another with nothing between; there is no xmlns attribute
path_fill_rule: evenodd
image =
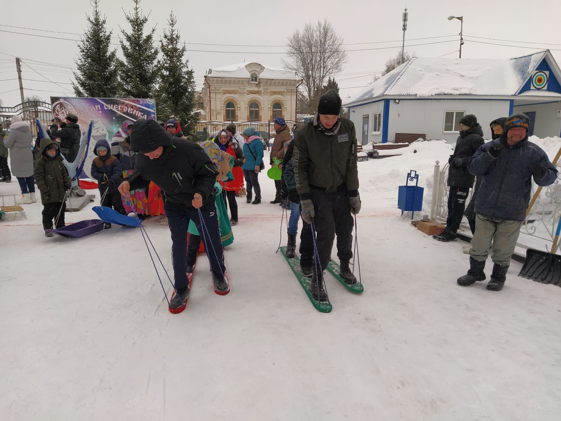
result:
<svg viewBox="0 0 561 421"><path fill-rule="evenodd" d="M536 249L526 250L526 260L518 276L540 283L561 286L561 256L553 253L557 248L560 232L561 218L557 223L551 253Z"/></svg>

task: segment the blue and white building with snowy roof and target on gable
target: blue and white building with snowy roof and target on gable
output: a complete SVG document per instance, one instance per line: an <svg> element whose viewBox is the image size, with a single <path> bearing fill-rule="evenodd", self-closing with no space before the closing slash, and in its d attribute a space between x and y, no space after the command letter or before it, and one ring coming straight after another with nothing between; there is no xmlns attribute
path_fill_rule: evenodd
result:
<svg viewBox="0 0 561 421"><path fill-rule="evenodd" d="M549 50L506 59L413 57L346 100L358 141L395 141L407 134L454 143L459 120L489 123L523 112L530 135L561 134L561 70Z"/></svg>

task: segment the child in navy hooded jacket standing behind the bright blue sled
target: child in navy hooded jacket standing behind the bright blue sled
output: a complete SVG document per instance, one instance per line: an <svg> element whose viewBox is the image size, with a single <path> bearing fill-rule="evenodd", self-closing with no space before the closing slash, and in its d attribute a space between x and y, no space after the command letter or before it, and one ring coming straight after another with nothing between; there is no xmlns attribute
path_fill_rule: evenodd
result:
<svg viewBox="0 0 561 421"><path fill-rule="evenodd" d="M121 193L118 190L123 178L121 162L109 153L109 143L105 139L98 140L95 144L94 154L96 157L91 162L91 176L98 180L99 194L103 198L102 206L112 207L126 215L127 212L121 202ZM111 228L111 224L106 222L105 228Z"/></svg>

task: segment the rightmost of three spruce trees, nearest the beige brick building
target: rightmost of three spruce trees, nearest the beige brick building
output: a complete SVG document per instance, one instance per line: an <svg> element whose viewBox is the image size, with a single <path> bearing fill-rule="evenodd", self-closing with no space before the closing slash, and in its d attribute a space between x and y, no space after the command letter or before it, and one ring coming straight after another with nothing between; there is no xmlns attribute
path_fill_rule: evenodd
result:
<svg viewBox="0 0 561 421"><path fill-rule="evenodd" d="M184 60L186 47L180 47L180 33L175 28L177 19L170 13L169 30L164 30L160 40L162 60L158 61L159 86L155 92L156 111L160 120L175 118L185 135L195 131L199 120L195 108L195 77L189 60ZM164 121L165 121L164 120Z"/></svg>

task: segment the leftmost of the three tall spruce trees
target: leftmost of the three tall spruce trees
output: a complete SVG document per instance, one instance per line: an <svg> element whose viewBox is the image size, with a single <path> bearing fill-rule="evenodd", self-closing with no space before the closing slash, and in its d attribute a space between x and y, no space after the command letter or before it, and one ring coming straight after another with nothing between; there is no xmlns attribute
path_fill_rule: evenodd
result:
<svg viewBox="0 0 561 421"><path fill-rule="evenodd" d="M112 31L105 30L105 16L99 11L99 0L91 0L94 8L88 16L88 29L80 44L77 71L73 71L76 83L72 88L77 97L114 98L121 90L117 77L117 50L109 49Z"/></svg>

